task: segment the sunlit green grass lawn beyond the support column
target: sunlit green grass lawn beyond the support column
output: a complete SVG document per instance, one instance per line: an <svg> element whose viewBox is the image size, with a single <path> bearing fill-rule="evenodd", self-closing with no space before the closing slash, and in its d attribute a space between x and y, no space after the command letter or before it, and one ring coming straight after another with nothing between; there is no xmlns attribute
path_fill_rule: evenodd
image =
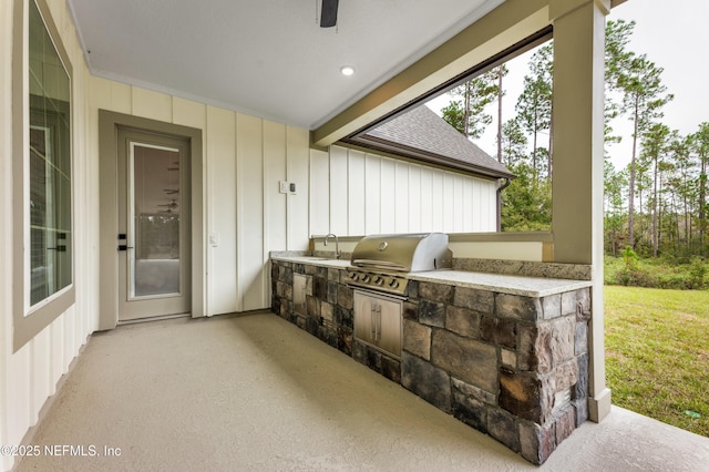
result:
<svg viewBox="0 0 709 472"><path fill-rule="evenodd" d="M613 403L709 438L709 290L604 294Z"/></svg>

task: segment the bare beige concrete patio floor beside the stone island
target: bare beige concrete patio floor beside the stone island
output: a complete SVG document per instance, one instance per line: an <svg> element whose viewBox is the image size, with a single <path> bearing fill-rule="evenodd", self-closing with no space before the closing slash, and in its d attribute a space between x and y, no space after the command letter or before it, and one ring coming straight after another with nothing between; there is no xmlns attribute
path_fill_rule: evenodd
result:
<svg viewBox="0 0 709 472"><path fill-rule="evenodd" d="M709 439L620 408L532 465L269 312L93 335L29 443L18 471L709 470Z"/></svg>

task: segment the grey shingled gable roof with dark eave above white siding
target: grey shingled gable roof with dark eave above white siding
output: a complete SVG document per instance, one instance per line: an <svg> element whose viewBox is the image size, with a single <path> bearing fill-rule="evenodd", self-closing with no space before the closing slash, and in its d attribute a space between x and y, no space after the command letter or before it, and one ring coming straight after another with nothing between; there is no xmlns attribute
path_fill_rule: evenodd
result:
<svg viewBox="0 0 709 472"><path fill-rule="evenodd" d="M425 105L403 113L350 141L486 177L514 177L504 165Z"/></svg>

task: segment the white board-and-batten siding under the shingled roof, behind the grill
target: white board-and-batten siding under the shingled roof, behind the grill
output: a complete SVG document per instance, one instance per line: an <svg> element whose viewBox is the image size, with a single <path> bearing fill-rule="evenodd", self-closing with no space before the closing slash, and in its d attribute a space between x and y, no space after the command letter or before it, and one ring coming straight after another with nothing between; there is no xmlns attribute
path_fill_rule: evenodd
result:
<svg viewBox="0 0 709 472"><path fill-rule="evenodd" d="M311 235L496 230L495 181L330 146L310 182Z"/></svg>

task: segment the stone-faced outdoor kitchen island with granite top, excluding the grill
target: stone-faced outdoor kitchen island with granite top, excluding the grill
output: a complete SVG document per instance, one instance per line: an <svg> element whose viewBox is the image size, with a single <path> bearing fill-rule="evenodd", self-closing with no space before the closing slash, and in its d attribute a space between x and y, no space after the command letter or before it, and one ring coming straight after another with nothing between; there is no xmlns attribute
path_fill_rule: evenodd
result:
<svg viewBox="0 0 709 472"><path fill-rule="evenodd" d="M348 266L271 254L273 311L535 464L587 420L590 280L409 274L399 359L353 338ZM294 274L305 276L305 314Z"/></svg>

